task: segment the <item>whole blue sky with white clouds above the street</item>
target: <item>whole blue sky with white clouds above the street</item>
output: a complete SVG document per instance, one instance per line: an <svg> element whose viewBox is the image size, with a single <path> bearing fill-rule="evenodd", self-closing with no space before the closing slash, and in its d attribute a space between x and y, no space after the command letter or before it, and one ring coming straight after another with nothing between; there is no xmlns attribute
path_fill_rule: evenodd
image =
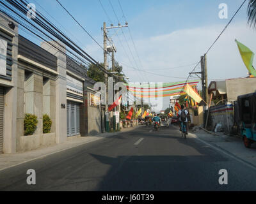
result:
<svg viewBox="0 0 256 204"><path fill-rule="evenodd" d="M103 22L109 27L111 23L117 25L118 22L124 25L127 20L129 28L108 29L108 36L117 50L115 60L123 66L130 82L185 81L195 66L191 64L200 61L200 56L205 54L243 3L243 0L119 0L123 14L118 0L59 1L100 45L103 45ZM103 61L102 48L57 1L29 2L34 3L36 10L44 13L94 59ZM227 19L219 17L221 3L228 6ZM248 1L207 54L208 83L247 76L248 71L235 43L237 39L256 52L256 30L247 25L247 6ZM20 34L40 43L22 31ZM110 68L109 57L108 61ZM200 71L200 66L195 71ZM163 103L165 109L169 98L164 98Z"/></svg>

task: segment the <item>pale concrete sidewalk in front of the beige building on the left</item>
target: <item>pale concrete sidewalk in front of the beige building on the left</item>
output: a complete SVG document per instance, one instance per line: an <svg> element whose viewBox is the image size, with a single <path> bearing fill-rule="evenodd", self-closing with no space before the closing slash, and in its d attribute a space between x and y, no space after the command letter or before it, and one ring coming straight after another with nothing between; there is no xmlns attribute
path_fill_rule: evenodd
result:
<svg viewBox="0 0 256 204"><path fill-rule="evenodd" d="M21 153L15 153L15 154L0 154L0 171L6 168L10 168L12 166L16 166L18 164L26 163L28 161L33 161L40 157L45 157L57 152L61 152L63 150L77 147L85 143L94 142L109 136L119 135L126 131L131 131L132 129L136 129L138 127L139 126L123 128L121 131L118 131L115 133L100 133L99 135L95 135L95 136L68 137L67 141L60 144L52 145L49 147L42 147L42 148L31 150L28 152L21 152Z"/></svg>

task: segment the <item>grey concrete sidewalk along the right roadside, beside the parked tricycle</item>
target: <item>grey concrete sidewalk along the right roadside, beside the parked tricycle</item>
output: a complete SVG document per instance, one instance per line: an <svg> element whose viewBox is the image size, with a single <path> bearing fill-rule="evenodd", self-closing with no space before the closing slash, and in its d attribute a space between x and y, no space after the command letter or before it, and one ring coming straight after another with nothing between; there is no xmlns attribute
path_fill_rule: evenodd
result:
<svg viewBox="0 0 256 204"><path fill-rule="evenodd" d="M189 135L199 138L214 147L218 147L223 152L227 152L256 167L256 143L253 143L252 147L248 149L244 147L243 140L239 136L211 135L202 129L196 132L190 132Z"/></svg>

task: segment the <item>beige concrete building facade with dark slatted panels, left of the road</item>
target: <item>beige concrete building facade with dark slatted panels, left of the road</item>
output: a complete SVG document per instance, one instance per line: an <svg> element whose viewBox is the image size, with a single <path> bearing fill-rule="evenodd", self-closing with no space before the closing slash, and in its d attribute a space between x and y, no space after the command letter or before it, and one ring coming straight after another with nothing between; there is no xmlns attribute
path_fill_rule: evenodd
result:
<svg viewBox="0 0 256 204"><path fill-rule="evenodd" d="M101 133L100 96L86 68L67 57L61 43L36 45L20 36L18 27L12 18L0 16L0 154ZM26 113L38 120L33 135L24 135ZM44 114L52 120L50 133L43 133Z"/></svg>

